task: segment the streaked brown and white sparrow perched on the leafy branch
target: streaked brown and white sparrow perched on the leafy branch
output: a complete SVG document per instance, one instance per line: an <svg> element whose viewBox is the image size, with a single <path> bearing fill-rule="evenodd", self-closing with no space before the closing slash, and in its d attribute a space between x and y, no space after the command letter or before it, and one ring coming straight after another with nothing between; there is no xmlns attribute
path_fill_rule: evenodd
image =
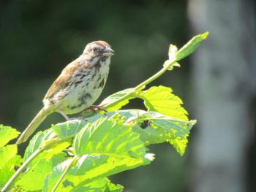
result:
<svg viewBox="0 0 256 192"><path fill-rule="evenodd" d="M105 86L112 55L114 51L107 42L95 41L86 45L83 54L68 64L50 86L43 99L44 107L23 131L17 144L26 142L51 113L60 112L67 117L90 107Z"/></svg>

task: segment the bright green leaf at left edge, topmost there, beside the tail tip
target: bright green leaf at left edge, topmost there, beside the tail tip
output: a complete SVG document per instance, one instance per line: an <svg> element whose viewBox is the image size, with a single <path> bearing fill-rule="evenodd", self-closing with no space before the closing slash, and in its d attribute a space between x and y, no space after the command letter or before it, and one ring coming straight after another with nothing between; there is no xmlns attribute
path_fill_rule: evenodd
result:
<svg viewBox="0 0 256 192"><path fill-rule="evenodd" d="M7 145L10 140L15 139L20 134L15 128L0 125L0 147Z"/></svg>

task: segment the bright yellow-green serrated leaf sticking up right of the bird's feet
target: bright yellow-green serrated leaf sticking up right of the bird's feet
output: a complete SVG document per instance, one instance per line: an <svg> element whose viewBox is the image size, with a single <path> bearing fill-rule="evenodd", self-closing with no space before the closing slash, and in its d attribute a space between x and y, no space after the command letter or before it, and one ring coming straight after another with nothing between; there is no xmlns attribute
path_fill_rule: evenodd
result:
<svg viewBox="0 0 256 192"><path fill-rule="evenodd" d="M171 88L165 86L151 87L139 93L149 111L160 112L179 120L188 120L187 111L181 107L182 101L173 95Z"/></svg>

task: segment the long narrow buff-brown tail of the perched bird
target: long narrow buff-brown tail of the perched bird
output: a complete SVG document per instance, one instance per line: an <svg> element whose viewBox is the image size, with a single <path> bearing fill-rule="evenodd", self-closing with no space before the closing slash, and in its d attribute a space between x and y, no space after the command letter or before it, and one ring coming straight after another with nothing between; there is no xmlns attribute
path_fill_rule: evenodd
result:
<svg viewBox="0 0 256 192"><path fill-rule="evenodd" d="M48 108L42 108L37 115L34 117L34 119L29 123L29 126L26 127L25 131L20 135L20 137L17 140L17 144L26 142L27 139L31 136L31 134L34 133L34 131L37 129L37 127L42 123L45 118L52 113L53 110Z"/></svg>

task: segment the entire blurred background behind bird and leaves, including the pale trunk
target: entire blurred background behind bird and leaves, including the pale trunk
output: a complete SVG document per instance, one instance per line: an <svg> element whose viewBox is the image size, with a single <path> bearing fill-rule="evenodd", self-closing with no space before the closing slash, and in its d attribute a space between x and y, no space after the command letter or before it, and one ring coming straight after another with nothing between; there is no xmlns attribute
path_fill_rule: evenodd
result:
<svg viewBox="0 0 256 192"><path fill-rule="evenodd" d="M181 47L195 34L210 31L200 50L180 62L181 69L166 72L152 84L173 88L189 118L199 122L192 129L186 155L180 157L167 144L151 146L156 153L151 165L112 180L126 191L233 191L231 183L236 183L235 191L255 191L254 6L253 1L242 0L1 0L0 123L22 131L42 107L51 82L88 42L102 39L116 51L99 102L157 72L167 59L170 43ZM234 74L233 79L227 74ZM222 85L225 91L233 86L235 91L222 93L218 91ZM234 99L234 95L238 96ZM232 108L236 99L241 104ZM217 118L230 100L230 115ZM140 101L129 105L140 106ZM235 128L237 123L226 123L229 120L243 123ZM50 115L40 128L60 121L59 114ZM223 128L212 134L214 128L208 125ZM225 132L229 126L232 134ZM227 155L230 150L234 153ZM238 161L232 164L233 159Z"/></svg>

